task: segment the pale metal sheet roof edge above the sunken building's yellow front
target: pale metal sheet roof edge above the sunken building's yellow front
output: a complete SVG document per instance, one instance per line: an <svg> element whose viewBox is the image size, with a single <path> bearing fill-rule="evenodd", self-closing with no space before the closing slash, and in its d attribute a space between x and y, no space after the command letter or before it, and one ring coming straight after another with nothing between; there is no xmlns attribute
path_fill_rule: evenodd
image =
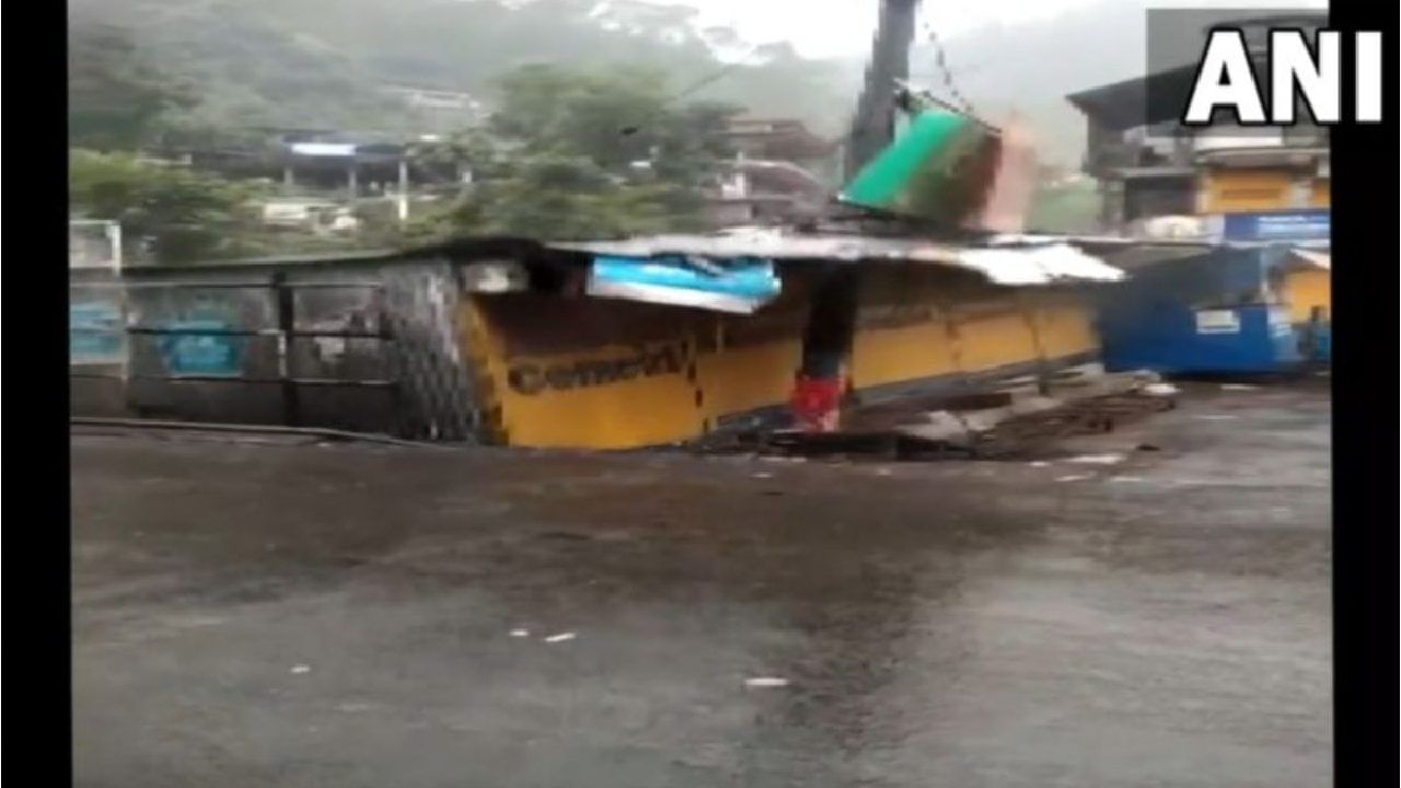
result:
<svg viewBox="0 0 1401 788"><path fill-rule="evenodd" d="M986 245L925 238L874 238L751 229L713 236L650 236L621 241L548 244L562 251L650 258L661 255L717 259L828 259L843 262L916 262L975 271L998 285L1117 282L1124 272L1059 238L1005 236Z"/></svg>

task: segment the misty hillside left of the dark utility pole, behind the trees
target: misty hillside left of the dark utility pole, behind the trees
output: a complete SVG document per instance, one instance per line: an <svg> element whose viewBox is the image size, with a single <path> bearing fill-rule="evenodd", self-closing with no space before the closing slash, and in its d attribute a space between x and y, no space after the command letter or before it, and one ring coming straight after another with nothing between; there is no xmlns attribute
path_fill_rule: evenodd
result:
<svg viewBox="0 0 1401 788"><path fill-rule="evenodd" d="M467 91L527 63L658 69L686 100L734 102L838 133L855 84L841 63L696 29L684 7L594 0L74 0L70 39L118 27L192 84L193 123L412 126L382 88ZM740 53L743 63L717 56Z"/></svg>

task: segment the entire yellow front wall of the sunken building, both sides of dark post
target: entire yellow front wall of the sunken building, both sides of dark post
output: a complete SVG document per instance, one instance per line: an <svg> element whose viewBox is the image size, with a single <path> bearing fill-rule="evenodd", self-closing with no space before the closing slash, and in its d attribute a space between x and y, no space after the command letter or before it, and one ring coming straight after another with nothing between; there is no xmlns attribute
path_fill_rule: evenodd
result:
<svg viewBox="0 0 1401 788"><path fill-rule="evenodd" d="M857 390L1097 349L1089 306L1073 296L969 293L918 273L869 282L850 366ZM801 282L785 280L780 303L754 317L548 296L474 296L464 310L497 442L629 449L786 404L807 303Z"/></svg>

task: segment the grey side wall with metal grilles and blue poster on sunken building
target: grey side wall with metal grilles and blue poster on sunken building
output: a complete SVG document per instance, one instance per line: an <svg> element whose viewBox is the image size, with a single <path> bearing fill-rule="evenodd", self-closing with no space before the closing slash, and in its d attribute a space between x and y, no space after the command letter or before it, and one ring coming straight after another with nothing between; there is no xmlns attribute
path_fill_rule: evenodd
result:
<svg viewBox="0 0 1401 788"><path fill-rule="evenodd" d="M446 262L70 271L74 415L476 439Z"/></svg>

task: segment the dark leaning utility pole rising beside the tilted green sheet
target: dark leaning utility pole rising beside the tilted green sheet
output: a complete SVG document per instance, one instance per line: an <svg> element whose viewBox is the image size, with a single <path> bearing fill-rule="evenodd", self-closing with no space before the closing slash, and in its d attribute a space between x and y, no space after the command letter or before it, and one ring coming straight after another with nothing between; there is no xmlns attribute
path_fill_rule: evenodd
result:
<svg viewBox="0 0 1401 788"><path fill-rule="evenodd" d="M909 79L909 48L915 41L919 0L880 0L880 18L866 83L846 142L843 177L856 177L895 137L895 86Z"/></svg>

